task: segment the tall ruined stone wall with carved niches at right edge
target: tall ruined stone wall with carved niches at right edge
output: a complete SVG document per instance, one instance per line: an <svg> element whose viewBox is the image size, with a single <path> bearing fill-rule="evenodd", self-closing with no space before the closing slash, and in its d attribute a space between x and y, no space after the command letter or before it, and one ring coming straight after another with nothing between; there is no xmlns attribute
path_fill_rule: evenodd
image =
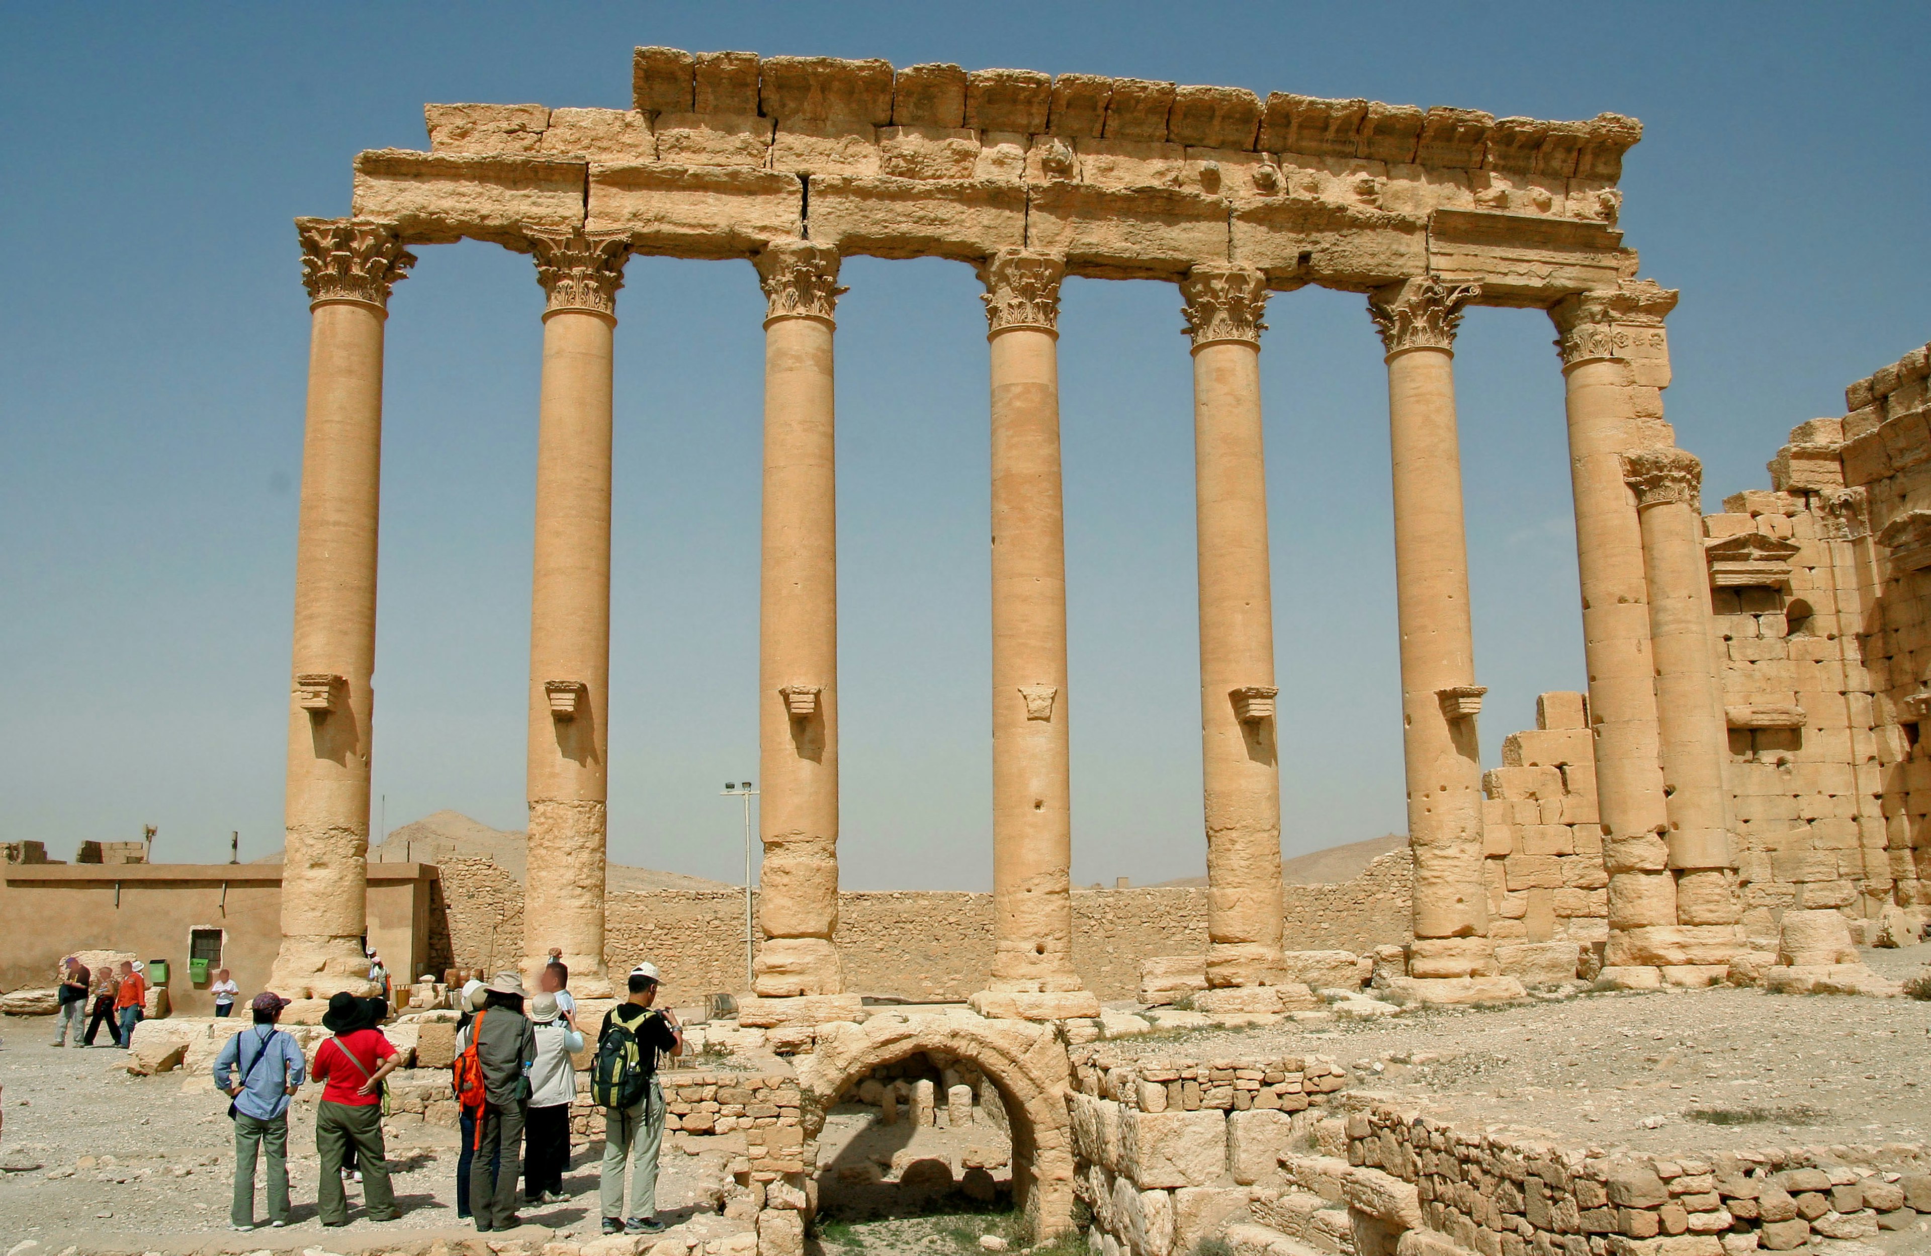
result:
<svg viewBox="0 0 1931 1256"><path fill-rule="evenodd" d="M1848 413L1790 432L1771 492L1707 515L1730 722L1744 926L1834 907L1854 936L1887 905L1931 901L1927 351L1846 390ZM1860 936L1860 942L1863 938Z"/></svg>

